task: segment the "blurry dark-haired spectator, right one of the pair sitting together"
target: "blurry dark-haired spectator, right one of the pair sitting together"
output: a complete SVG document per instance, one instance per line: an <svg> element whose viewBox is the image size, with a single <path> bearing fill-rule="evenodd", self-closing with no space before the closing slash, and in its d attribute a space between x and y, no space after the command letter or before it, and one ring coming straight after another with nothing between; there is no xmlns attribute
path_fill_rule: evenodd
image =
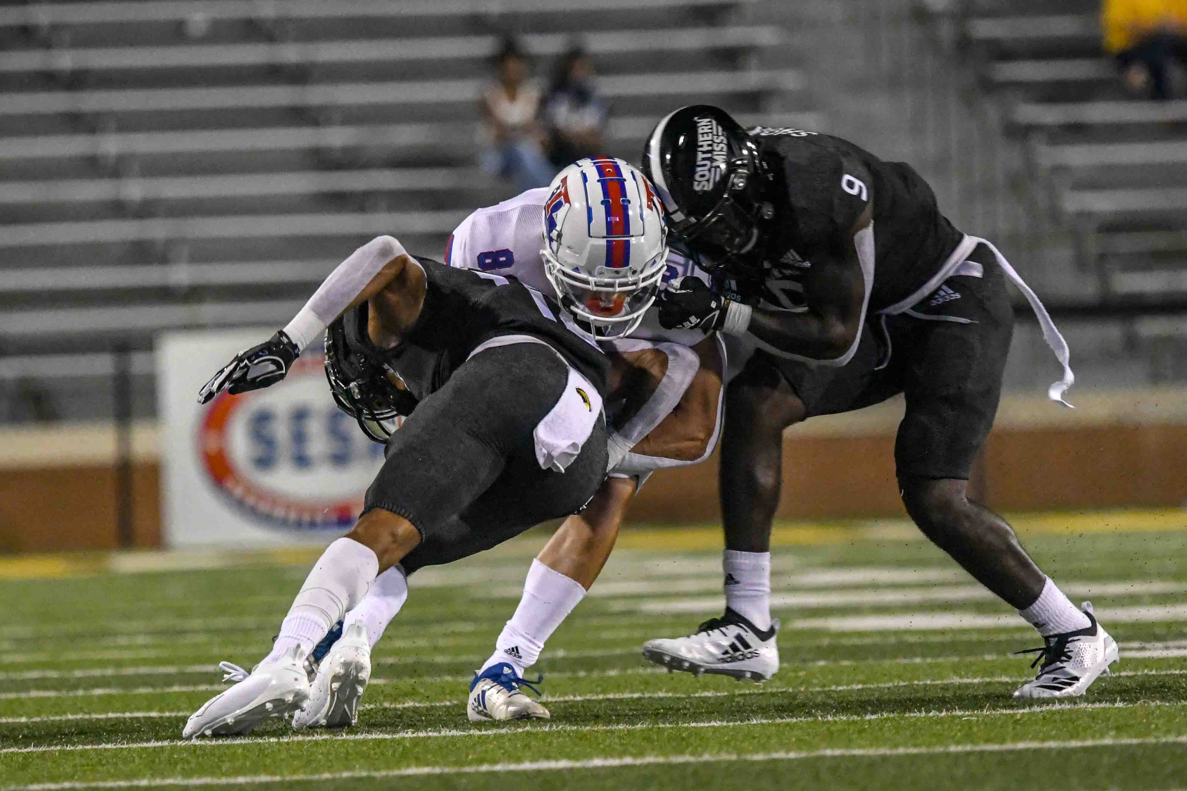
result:
<svg viewBox="0 0 1187 791"><path fill-rule="evenodd" d="M605 102L594 87L594 62L575 44L560 58L544 100L544 126L548 132L548 159L564 167L583 157L603 154Z"/></svg>

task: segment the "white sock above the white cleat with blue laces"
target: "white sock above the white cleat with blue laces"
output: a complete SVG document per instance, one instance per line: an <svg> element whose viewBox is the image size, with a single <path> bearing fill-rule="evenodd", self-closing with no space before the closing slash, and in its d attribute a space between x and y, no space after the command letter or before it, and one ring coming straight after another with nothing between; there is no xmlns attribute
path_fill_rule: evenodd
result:
<svg viewBox="0 0 1187 791"><path fill-rule="evenodd" d="M522 676L540 658L545 640L552 637L584 597L585 588L580 582L533 560L527 579L523 580L523 597L519 607L503 626L495 642L495 652L482 665L482 670L507 662Z"/></svg>

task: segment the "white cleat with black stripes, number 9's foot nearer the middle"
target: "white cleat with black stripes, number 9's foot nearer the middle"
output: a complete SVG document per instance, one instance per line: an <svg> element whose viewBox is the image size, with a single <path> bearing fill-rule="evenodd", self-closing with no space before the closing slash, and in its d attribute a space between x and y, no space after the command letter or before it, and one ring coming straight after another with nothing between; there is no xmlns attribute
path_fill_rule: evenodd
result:
<svg viewBox="0 0 1187 791"><path fill-rule="evenodd" d="M665 665L669 672L683 670L694 676L711 672L761 683L779 671L777 633L777 618L772 621L770 629L761 631L726 607L724 615L706 620L696 634L647 640L643 643L643 656Z"/></svg>

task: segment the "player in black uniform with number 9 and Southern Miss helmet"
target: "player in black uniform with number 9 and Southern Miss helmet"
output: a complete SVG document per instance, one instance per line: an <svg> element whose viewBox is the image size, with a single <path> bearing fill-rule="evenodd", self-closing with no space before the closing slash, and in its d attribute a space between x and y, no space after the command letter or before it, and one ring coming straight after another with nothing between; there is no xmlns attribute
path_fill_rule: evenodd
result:
<svg viewBox="0 0 1187 791"><path fill-rule="evenodd" d="M672 283L661 323L722 331L753 350L728 389L722 439L725 614L690 637L650 640L648 658L738 677L777 669L769 544L782 432L902 393L895 463L907 512L1045 639L1037 677L1015 695L1083 694L1117 659L1116 642L1001 516L966 496L1010 345L1007 279L1064 363L1050 397L1062 401L1072 383L1062 337L997 249L953 228L909 165L826 134L747 130L716 107L660 121L643 172L672 234L718 283Z"/></svg>

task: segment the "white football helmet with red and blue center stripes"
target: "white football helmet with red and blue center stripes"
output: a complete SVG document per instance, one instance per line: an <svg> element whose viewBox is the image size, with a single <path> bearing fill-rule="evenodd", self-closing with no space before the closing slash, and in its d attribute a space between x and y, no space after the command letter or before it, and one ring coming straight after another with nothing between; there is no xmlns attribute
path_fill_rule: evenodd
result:
<svg viewBox="0 0 1187 791"><path fill-rule="evenodd" d="M596 339L630 334L664 276L664 204L642 173L609 157L573 162L550 190L540 253L561 307Z"/></svg>

